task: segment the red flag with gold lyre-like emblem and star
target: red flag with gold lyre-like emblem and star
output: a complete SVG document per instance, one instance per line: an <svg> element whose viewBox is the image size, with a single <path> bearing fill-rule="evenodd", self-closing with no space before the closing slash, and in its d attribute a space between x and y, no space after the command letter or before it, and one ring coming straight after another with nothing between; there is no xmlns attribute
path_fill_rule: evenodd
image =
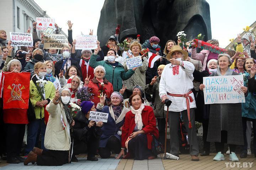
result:
<svg viewBox="0 0 256 170"><path fill-rule="evenodd" d="M28 109L30 73L3 72L4 109Z"/></svg>

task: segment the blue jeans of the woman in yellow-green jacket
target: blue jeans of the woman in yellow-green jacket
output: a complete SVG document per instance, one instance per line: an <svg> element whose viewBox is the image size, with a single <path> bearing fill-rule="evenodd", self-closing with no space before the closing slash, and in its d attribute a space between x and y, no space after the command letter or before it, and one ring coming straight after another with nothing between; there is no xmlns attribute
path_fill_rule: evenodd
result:
<svg viewBox="0 0 256 170"><path fill-rule="evenodd" d="M46 131L46 124L43 119L36 119L28 124L28 134L27 134L27 147L25 149L25 155L28 155L32 151L33 147L36 145L37 131L41 128L41 149L46 149L44 147L44 134Z"/></svg>

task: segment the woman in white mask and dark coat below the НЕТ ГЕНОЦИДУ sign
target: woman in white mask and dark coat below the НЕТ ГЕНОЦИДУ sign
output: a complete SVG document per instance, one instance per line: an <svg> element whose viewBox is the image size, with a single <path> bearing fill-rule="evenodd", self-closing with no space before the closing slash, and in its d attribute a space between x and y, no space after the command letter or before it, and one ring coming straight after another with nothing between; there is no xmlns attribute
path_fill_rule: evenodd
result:
<svg viewBox="0 0 256 170"><path fill-rule="evenodd" d="M55 63L55 76L59 75L60 70L63 70L63 74L65 74L70 66L75 66L81 73L79 62L71 57L72 54L70 54L70 50L69 46L62 48L62 59Z"/></svg>

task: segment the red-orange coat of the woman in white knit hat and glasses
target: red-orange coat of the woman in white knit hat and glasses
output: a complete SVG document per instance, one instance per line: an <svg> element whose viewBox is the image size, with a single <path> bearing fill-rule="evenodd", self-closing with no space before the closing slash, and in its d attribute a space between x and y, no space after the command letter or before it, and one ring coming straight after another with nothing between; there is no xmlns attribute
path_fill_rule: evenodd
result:
<svg viewBox="0 0 256 170"><path fill-rule="evenodd" d="M110 83L106 78L103 78L103 83L106 87L106 97L108 99L110 99L111 94L113 93L113 85L112 83ZM97 85L98 84L98 85ZM99 91L99 87L101 83L98 82L98 80L96 80L96 78L94 77L92 80L90 80L88 87L91 88L91 93L93 93L94 95L92 96L93 99L91 98L91 101L94 102L95 107L97 106L98 103L100 103L100 98L98 96L100 96L100 92Z"/></svg>

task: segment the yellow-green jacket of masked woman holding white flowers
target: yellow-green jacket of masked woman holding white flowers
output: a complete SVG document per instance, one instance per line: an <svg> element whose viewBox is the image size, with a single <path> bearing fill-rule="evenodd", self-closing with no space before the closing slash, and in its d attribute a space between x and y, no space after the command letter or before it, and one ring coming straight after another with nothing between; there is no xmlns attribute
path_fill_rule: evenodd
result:
<svg viewBox="0 0 256 170"><path fill-rule="evenodd" d="M55 96L55 91L56 90L53 83L47 81L47 84L44 85L45 99L51 101ZM36 107L36 102L42 100L37 90L37 87L32 80L30 80L30 100L34 107L36 119L44 118L44 107Z"/></svg>

